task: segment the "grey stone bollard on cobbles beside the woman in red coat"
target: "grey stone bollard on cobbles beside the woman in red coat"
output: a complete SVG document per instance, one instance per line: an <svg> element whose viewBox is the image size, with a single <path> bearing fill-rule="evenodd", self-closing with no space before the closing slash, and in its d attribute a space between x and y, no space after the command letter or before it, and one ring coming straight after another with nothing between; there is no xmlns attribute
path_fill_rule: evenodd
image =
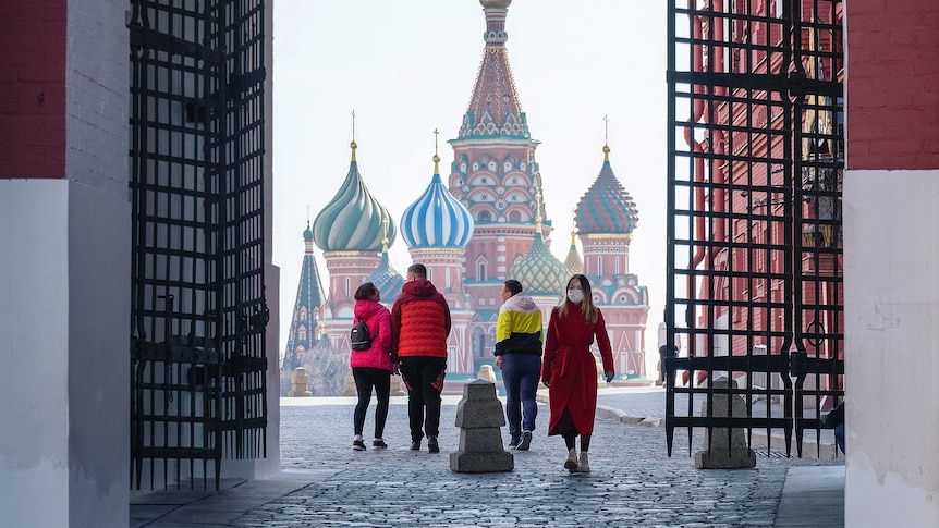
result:
<svg viewBox="0 0 939 528"><path fill-rule="evenodd" d="M476 380L463 385L463 400L456 406L460 449L450 453L450 469L456 472L511 471L512 453L502 447L501 427L505 425L496 384Z"/></svg>

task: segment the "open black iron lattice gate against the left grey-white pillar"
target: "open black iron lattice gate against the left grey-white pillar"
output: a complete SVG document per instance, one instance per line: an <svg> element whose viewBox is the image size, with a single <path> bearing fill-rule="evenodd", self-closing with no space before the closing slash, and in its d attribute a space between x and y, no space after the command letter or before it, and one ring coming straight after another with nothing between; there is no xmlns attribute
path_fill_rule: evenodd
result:
<svg viewBox="0 0 939 528"><path fill-rule="evenodd" d="M131 8L131 481L218 488L267 451L264 1Z"/></svg>

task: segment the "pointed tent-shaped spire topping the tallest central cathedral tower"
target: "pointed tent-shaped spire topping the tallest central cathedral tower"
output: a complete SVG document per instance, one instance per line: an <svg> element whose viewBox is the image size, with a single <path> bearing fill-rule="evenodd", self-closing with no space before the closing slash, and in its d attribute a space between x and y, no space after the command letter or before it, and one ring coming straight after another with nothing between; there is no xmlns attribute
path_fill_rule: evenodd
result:
<svg viewBox="0 0 939 528"><path fill-rule="evenodd" d="M528 139L528 123L505 52L505 14L511 0L479 0L486 14L483 63L458 139L510 137Z"/></svg>

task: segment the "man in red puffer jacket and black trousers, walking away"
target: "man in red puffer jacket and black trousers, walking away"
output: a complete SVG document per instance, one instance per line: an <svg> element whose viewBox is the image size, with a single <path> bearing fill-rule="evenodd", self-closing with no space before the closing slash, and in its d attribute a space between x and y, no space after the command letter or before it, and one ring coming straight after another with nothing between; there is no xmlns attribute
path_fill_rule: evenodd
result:
<svg viewBox="0 0 939 528"><path fill-rule="evenodd" d="M411 265L407 282L391 308L391 356L401 361L401 378L407 386L407 418L414 451L420 449L426 431L427 450L440 452L437 437L448 335L450 307L447 299L427 280L424 265Z"/></svg>

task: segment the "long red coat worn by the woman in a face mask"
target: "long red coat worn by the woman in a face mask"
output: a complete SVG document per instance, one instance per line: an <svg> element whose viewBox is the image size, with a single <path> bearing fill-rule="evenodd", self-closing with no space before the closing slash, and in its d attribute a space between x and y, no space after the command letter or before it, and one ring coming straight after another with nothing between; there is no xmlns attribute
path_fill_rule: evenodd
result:
<svg viewBox="0 0 939 528"><path fill-rule="evenodd" d="M597 364L590 353L594 337L600 347L605 371L613 370L613 353L599 308L597 322L587 324L581 306L564 302L569 307L566 316L561 317L558 308L551 310L541 363L541 380L548 383L551 408L548 434L565 432L564 423L561 423L564 410L570 414L577 434L589 434L594 432L597 414Z"/></svg>

